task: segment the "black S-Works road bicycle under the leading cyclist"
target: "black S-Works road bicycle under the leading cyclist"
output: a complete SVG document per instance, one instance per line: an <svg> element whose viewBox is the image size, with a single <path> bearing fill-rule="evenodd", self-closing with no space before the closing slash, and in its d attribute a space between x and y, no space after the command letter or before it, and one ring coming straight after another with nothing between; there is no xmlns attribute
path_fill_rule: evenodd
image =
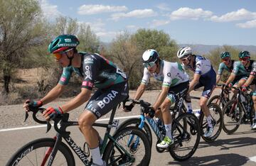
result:
<svg viewBox="0 0 256 166"><path fill-rule="evenodd" d="M51 125L47 121L41 121L37 112L43 112L45 109L34 109L33 119L38 123L47 123L47 132L50 131ZM100 153L102 160L107 165L149 165L151 159L151 147L149 140L144 131L136 127L127 127L110 135L111 128L116 125L114 114L117 106L112 110L109 123L94 123L93 126L107 128ZM55 131L54 138L40 138L23 145L6 165L68 165L75 166L73 152L84 165L91 165L90 150L87 143L84 148L80 148L70 137L70 131L66 131L69 126L78 126L78 121L68 121L69 114L63 114L56 117L53 122ZM26 118L28 114L26 113ZM129 141L130 135L134 141ZM136 139L135 139L136 138ZM66 141L63 143L62 139ZM68 147L69 146L69 147ZM70 150L71 149L71 150Z"/></svg>

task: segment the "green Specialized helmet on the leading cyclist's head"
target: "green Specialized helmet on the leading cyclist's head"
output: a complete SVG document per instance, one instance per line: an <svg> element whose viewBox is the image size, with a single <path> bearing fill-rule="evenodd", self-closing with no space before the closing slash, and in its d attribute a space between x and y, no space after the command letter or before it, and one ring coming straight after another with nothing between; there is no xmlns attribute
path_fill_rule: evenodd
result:
<svg viewBox="0 0 256 166"><path fill-rule="evenodd" d="M68 48L75 48L79 45L79 40L75 35L59 35L48 46L48 52L57 53L68 50Z"/></svg>

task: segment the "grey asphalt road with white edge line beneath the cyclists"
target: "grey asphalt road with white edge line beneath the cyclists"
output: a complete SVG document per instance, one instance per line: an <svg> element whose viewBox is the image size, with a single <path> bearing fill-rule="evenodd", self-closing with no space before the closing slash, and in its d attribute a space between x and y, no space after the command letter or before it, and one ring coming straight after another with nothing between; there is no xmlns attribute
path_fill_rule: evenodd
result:
<svg viewBox="0 0 256 166"><path fill-rule="evenodd" d="M146 101L153 102L154 99L149 97L149 94L156 96L159 91L146 92ZM218 92L215 92L218 94ZM151 96L150 95L150 96ZM59 100L53 105L62 104L65 100ZM197 109L196 103L193 102L193 109ZM83 106L80 106L75 111L71 112L71 120L77 120L80 111ZM137 108L134 108L137 110ZM32 117L28 117L27 122L23 122L24 114L22 110L22 105L12 105L12 106L0 106L0 165L6 165L7 160L12 154L21 148L22 145L35 140L37 138L49 137L53 138L55 132L52 130L46 133L46 127L38 128L24 128L15 129L18 127L34 126L38 125L33 122ZM124 113L121 110L117 111L115 117L124 116L137 116L138 111L133 111L131 113ZM110 114L102 118L108 118ZM119 123L122 123L120 120ZM103 121L107 123L107 121ZM13 130L10 130L13 128ZM72 133L71 137L75 140L78 145L82 146L84 143L83 135L80 133L77 127L70 127ZM105 133L105 130L97 128L100 135ZM112 129L114 131L114 129ZM242 124L238 131L232 135L227 135L223 131L220 136L213 143L206 143L201 139L196 153L184 162L175 161L169 152L157 153L156 152L156 136L153 135L153 145L151 150L151 162L150 165L256 165L256 131L251 131L249 125ZM76 165L82 165L82 162L75 157Z"/></svg>

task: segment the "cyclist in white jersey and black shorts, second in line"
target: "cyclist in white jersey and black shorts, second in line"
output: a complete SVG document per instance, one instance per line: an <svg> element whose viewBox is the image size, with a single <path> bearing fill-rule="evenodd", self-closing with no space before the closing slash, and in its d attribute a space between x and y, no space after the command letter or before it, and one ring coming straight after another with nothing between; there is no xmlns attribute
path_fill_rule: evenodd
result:
<svg viewBox="0 0 256 166"><path fill-rule="evenodd" d="M149 116L152 118L156 113L156 117L164 121L166 136L161 143L157 144L159 148L168 148L174 143L171 135L171 113L169 108L178 98L186 95L188 91L188 74L183 71L181 64L178 62L167 62L161 60L158 52L153 49L146 50L142 55L144 65L144 75L139 85L134 99L138 100L146 89L146 84L150 77L163 82L161 92L156 99L154 105L149 109ZM124 107L124 111L131 111L134 104ZM161 109L161 111L159 110Z"/></svg>

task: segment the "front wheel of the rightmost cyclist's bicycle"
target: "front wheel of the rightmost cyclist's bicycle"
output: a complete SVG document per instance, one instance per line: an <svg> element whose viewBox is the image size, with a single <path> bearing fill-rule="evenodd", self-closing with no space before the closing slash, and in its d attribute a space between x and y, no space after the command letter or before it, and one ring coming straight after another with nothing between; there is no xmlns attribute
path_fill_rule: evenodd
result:
<svg viewBox="0 0 256 166"><path fill-rule="evenodd" d="M240 104L236 104L235 108L234 108L234 113L235 115L230 115L230 109L232 109L233 104L235 101L235 99L232 99L230 101L228 101L227 104L225 104L224 109L223 109L223 131L225 131L225 133L227 134L232 134L235 133L235 131L238 130L240 123L242 121L242 106ZM233 123L235 125L233 125L234 127L230 128L230 124Z"/></svg>

